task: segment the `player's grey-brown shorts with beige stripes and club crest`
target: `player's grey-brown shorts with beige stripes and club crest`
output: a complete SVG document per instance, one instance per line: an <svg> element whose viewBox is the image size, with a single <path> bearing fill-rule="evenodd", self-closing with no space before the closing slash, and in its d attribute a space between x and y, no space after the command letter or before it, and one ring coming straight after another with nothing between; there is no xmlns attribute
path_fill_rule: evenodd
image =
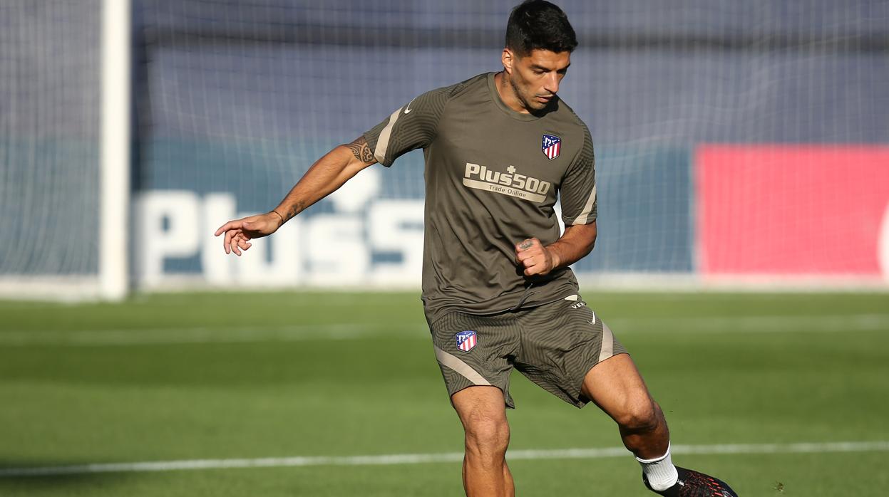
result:
<svg viewBox="0 0 889 497"><path fill-rule="evenodd" d="M589 402L581 394L589 370L627 353L580 296L494 315L449 312L430 331L448 395L492 385L503 390L508 407L515 407L509 395L514 367L556 397L582 407Z"/></svg>

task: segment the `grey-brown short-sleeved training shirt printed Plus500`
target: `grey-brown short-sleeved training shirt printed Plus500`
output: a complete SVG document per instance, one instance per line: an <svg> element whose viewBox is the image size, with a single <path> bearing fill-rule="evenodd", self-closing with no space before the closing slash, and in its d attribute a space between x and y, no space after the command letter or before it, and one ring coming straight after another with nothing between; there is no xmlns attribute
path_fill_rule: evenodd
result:
<svg viewBox="0 0 889 497"><path fill-rule="evenodd" d="M423 93L364 133L378 162L422 148L426 159L423 304L429 322L445 312L493 314L578 292L573 272L527 278L515 245L557 241L565 225L596 220L593 143L561 99L543 114L503 103L494 73Z"/></svg>

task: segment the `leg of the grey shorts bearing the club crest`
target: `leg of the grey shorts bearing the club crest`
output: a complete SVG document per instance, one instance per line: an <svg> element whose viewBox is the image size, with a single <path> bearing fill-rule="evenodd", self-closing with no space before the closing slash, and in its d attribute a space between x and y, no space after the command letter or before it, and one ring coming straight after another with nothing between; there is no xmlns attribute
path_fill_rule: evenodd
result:
<svg viewBox="0 0 889 497"><path fill-rule="evenodd" d="M519 336L515 316L476 316L451 312L430 326L433 348L448 395L472 386L493 386L502 392L505 406L514 407L509 395L512 358Z"/></svg>

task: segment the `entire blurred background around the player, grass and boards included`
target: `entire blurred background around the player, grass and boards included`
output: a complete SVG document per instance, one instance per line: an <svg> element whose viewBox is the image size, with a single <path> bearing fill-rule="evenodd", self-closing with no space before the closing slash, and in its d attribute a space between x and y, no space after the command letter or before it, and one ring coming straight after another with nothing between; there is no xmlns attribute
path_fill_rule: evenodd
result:
<svg viewBox="0 0 889 497"><path fill-rule="evenodd" d="M514 2L0 0L0 494L461 494L420 151L243 257L212 233L499 70ZM882 494L889 2L558 4L596 144L575 271L674 460L745 496ZM520 494L650 494L605 414L517 376Z"/></svg>

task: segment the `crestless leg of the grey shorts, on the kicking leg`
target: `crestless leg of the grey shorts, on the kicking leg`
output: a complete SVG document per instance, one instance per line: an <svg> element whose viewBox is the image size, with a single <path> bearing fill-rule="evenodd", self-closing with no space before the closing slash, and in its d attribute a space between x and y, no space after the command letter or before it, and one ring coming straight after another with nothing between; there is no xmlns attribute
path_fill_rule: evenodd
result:
<svg viewBox="0 0 889 497"><path fill-rule="evenodd" d="M522 318L521 345L516 368L578 407L589 402L582 392L589 370L627 352L580 296L529 310Z"/></svg>

